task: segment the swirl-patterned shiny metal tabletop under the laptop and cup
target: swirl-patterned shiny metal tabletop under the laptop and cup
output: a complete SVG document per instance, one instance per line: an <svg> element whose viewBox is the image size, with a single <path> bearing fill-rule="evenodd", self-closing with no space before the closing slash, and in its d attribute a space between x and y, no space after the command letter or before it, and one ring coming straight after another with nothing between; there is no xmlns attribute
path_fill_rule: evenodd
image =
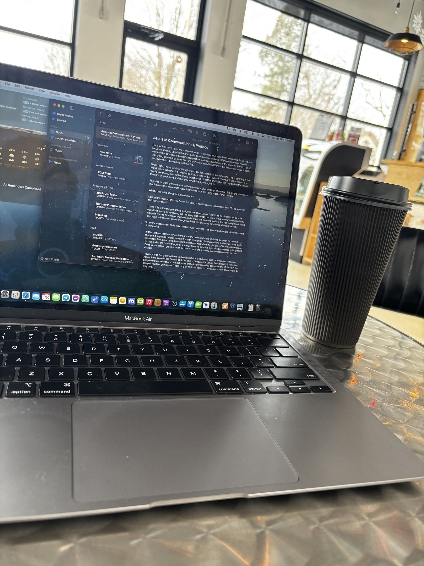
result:
<svg viewBox="0 0 424 566"><path fill-rule="evenodd" d="M317 346L305 297L283 328L424 460L424 346L371 317L353 353ZM0 526L1 566L133 564L423 566L424 481Z"/></svg>

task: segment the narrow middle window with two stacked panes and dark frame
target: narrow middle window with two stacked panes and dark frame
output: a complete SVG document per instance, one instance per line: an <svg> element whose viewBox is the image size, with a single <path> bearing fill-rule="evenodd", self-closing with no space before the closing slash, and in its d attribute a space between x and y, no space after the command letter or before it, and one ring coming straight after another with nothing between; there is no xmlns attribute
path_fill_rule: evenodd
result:
<svg viewBox="0 0 424 566"><path fill-rule="evenodd" d="M204 0L126 0L120 84L191 102Z"/></svg>

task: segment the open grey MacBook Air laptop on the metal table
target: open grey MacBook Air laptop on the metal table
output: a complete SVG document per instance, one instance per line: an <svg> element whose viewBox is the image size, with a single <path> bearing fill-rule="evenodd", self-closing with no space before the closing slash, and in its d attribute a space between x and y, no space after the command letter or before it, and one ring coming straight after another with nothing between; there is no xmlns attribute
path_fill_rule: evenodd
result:
<svg viewBox="0 0 424 566"><path fill-rule="evenodd" d="M403 482L280 328L301 132L0 65L0 520Z"/></svg>

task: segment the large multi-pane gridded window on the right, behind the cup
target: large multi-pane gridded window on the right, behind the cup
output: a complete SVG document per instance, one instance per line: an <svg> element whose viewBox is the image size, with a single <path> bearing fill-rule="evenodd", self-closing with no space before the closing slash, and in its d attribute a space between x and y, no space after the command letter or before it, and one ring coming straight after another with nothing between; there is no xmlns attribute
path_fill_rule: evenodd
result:
<svg viewBox="0 0 424 566"><path fill-rule="evenodd" d="M325 8L299 0L247 0L232 112L291 123L307 139L319 114L330 132L360 128L378 164L390 139L408 61ZM277 9L278 7L278 9ZM325 12L325 13L324 13ZM357 131L357 130L356 130Z"/></svg>

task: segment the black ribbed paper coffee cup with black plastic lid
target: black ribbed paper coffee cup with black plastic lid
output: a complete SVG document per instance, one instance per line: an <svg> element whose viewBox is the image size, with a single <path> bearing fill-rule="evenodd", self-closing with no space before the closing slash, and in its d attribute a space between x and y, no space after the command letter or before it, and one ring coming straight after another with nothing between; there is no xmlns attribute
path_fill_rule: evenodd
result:
<svg viewBox="0 0 424 566"><path fill-rule="evenodd" d="M356 177L330 177L321 194L302 333L353 348L412 205L407 188Z"/></svg>

